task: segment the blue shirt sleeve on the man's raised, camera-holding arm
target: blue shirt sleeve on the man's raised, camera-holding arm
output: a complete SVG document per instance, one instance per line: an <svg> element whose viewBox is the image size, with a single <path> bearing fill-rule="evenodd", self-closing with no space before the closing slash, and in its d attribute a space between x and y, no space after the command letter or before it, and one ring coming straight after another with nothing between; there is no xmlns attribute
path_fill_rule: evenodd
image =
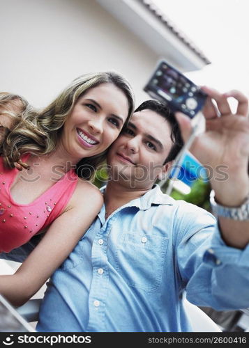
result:
<svg viewBox="0 0 249 348"><path fill-rule="evenodd" d="M216 310L249 307L249 244L227 246L209 213L188 219L177 246L181 284L187 299Z"/></svg>

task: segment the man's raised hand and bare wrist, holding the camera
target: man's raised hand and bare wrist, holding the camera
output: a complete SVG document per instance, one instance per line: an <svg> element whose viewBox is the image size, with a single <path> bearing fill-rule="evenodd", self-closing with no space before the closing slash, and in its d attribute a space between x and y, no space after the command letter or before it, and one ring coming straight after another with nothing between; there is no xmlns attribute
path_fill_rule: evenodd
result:
<svg viewBox="0 0 249 348"><path fill-rule="evenodd" d="M203 109L206 130L196 136L190 152L205 166L224 166L227 180L211 178L211 187L219 205L239 207L248 198L249 177L249 120L248 98L237 90L228 93L203 87L209 96ZM238 105L233 113L228 98L234 97ZM213 103L213 100L216 102ZM190 119L183 113L176 113L183 140L191 131ZM249 220L233 221L219 216L222 237L227 244L243 248L249 242Z"/></svg>

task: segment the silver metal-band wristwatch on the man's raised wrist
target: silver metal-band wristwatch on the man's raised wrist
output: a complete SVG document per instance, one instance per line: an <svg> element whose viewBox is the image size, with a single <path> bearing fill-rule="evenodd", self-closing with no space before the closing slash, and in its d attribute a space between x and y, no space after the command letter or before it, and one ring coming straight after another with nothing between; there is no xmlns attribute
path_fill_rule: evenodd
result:
<svg viewBox="0 0 249 348"><path fill-rule="evenodd" d="M223 216L227 219L238 221L249 220L249 196L240 207L224 207L216 203L214 191L212 190L210 193L210 205L215 216Z"/></svg>

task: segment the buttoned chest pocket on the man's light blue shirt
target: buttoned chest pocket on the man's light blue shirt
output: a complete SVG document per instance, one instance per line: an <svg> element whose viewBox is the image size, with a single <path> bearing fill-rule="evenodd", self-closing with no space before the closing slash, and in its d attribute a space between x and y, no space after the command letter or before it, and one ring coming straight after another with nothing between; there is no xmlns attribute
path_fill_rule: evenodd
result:
<svg viewBox="0 0 249 348"><path fill-rule="evenodd" d="M130 287L156 292L162 282L168 243L167 237L123 232L116 248L116 271Z"/></svg>

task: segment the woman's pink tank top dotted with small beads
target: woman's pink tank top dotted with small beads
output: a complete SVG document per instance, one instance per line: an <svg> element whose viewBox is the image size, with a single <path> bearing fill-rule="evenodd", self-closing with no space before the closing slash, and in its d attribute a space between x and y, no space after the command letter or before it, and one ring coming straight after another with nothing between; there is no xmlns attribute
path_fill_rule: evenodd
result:
<svg viewBox="0 0 249 348"><path fill-rule="evenodd" d="M22 161L28 157L29 154L24 155ZM78 180L71 169L32 203L18 204L10 194L17 173L16 168L5 168L0 157L0 253L29 242L33 235L49 226L66 207Z"/></svg>

